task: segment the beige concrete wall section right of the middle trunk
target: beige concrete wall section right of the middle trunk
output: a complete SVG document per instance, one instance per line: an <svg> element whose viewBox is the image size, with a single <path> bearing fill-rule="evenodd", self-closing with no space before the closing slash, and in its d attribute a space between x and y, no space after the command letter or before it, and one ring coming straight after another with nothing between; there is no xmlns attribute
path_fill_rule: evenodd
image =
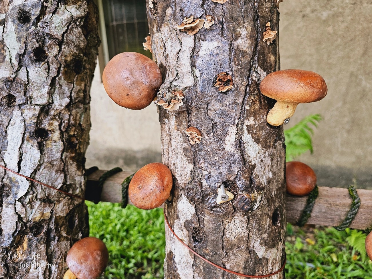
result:
<svg viewBox="0 0 372 279"><path fill-rule="evenodd" d="M323 100L300 104L291 119L324 118L314 154L299 160L314 168L320 185L346 186L355 177L372 186L372 1L284 0L279 8L281 68L315 71L328 86Z"/></svg>

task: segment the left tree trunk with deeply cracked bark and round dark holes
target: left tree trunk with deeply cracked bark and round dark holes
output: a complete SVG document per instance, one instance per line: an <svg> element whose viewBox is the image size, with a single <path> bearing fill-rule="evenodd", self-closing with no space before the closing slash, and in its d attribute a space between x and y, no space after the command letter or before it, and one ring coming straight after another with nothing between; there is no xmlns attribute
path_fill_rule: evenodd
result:
<svg viewBox="0 0 372 279"><path fill-rule="evenodd" d="M0 36L0 163L84 196L93 1L2 1ZM0 278L62 278L89 234L84 202L3 169L0 179Z"/></svg>

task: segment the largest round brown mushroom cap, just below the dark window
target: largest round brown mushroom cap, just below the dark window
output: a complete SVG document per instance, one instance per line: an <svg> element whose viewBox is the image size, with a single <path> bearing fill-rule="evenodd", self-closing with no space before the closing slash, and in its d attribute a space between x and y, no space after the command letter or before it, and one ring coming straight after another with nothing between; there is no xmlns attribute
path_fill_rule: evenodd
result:
<svg viewBox="0 0 372 279"><path fill-rule="evenodd" d="M137 52L122 52L106 65L103 86L119 106L143 109L154 100L162 78L153 60Z"/></svg>

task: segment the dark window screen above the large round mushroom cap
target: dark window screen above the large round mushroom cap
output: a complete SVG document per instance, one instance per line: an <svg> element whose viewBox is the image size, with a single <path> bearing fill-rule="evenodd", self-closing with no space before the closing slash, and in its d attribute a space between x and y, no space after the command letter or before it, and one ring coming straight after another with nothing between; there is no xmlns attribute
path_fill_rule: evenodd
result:
<svg viewBox="0 0 372 279"><path fill-rule="evenodd" d="M148 36L145 0L106 0L103 10L110 59L128 51L151 57L142 46Z"/></svg>

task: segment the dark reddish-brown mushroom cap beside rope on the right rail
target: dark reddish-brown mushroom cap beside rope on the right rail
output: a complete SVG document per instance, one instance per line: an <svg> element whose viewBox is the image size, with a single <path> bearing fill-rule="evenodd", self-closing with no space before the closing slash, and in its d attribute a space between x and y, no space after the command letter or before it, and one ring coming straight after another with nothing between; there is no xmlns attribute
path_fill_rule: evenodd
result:
<svg viewBox="0 0 372 279"><path fill-rule="evenodd" d="M294 196L308 195L317 183L314 170L298 161L286 163L285 175L287 192Z"/></svg>

